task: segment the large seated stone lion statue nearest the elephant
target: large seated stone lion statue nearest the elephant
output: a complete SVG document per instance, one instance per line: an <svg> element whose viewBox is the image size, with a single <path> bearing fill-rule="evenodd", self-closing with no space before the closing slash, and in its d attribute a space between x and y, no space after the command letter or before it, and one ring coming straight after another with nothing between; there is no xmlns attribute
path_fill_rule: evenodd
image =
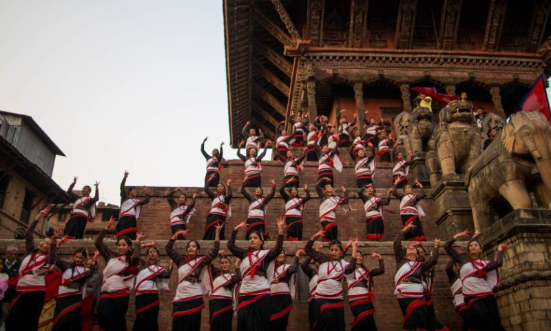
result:
<svg viewBox="0 0 551 331"><path fill-rule="evenodd" d="M464 174L482 151L482 137L470 101L451 101L439 112L438 126L428 142L435 150L426 154L430 185L442 177Z"/></svg>

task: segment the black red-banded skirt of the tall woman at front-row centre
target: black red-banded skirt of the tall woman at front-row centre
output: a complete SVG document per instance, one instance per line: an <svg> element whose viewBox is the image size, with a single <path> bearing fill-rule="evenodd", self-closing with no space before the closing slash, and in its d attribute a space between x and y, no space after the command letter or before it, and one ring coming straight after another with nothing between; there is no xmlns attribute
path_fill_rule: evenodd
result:
<svg viewBox="0 0 551 331"><path fill-rule="evenodd" d="M268 331L270 323L270 294L239 297L237 330Z"/></svg>

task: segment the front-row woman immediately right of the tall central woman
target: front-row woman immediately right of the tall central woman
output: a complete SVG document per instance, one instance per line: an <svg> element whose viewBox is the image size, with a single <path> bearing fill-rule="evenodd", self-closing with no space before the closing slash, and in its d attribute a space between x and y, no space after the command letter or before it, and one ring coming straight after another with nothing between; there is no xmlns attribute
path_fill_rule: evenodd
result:
<svg viewBox="0 0 551 331"><path fill-rule="evenodd" d="M304 250L297 250L293 264L285 263L285 251L282 250L275 260L268 265L270 282L270 328L271 331L287 330L289 314L293 309L293 300L298 299L297 279L300 257Z"/></svg>

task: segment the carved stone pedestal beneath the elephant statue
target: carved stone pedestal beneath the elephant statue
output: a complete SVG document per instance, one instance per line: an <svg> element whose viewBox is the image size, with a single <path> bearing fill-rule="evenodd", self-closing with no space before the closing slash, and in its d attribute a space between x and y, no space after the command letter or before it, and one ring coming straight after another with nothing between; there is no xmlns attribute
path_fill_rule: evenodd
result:
<svg viewBox="0 0 551 331"><path fill-rule="evenodd" d="M490 259L508 241L495 290L503 327L511 331L551 330L551 211L511 212L480 237Z"/></svg>

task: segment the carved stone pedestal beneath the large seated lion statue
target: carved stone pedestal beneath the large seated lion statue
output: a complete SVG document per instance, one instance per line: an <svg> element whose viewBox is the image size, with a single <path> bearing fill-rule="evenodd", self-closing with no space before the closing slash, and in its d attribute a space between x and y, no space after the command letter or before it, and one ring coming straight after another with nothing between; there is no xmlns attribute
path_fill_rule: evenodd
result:
<svg viewBox="0 0 551 331"><path fill-rule="evenodd" d="M435 222L441 238L450 238L461 230L473 228L463 174L444 177L433 187Z"/></svg>

